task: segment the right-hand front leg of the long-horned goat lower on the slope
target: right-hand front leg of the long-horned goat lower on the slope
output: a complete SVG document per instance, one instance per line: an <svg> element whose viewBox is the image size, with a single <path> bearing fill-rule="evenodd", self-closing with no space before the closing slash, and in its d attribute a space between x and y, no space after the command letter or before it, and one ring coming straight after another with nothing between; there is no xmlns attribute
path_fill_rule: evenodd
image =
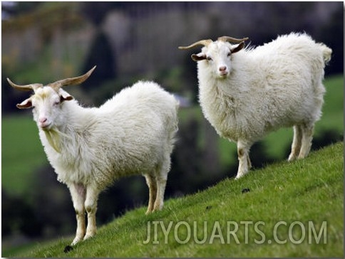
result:
<svg viewBox="0 0 345 259"><path fill-rule="evenodd" d="M96 235L96 211L99 191L96 186L88 186L86 189L85 209L88 213L88 227L84 240Z"/></svg>

